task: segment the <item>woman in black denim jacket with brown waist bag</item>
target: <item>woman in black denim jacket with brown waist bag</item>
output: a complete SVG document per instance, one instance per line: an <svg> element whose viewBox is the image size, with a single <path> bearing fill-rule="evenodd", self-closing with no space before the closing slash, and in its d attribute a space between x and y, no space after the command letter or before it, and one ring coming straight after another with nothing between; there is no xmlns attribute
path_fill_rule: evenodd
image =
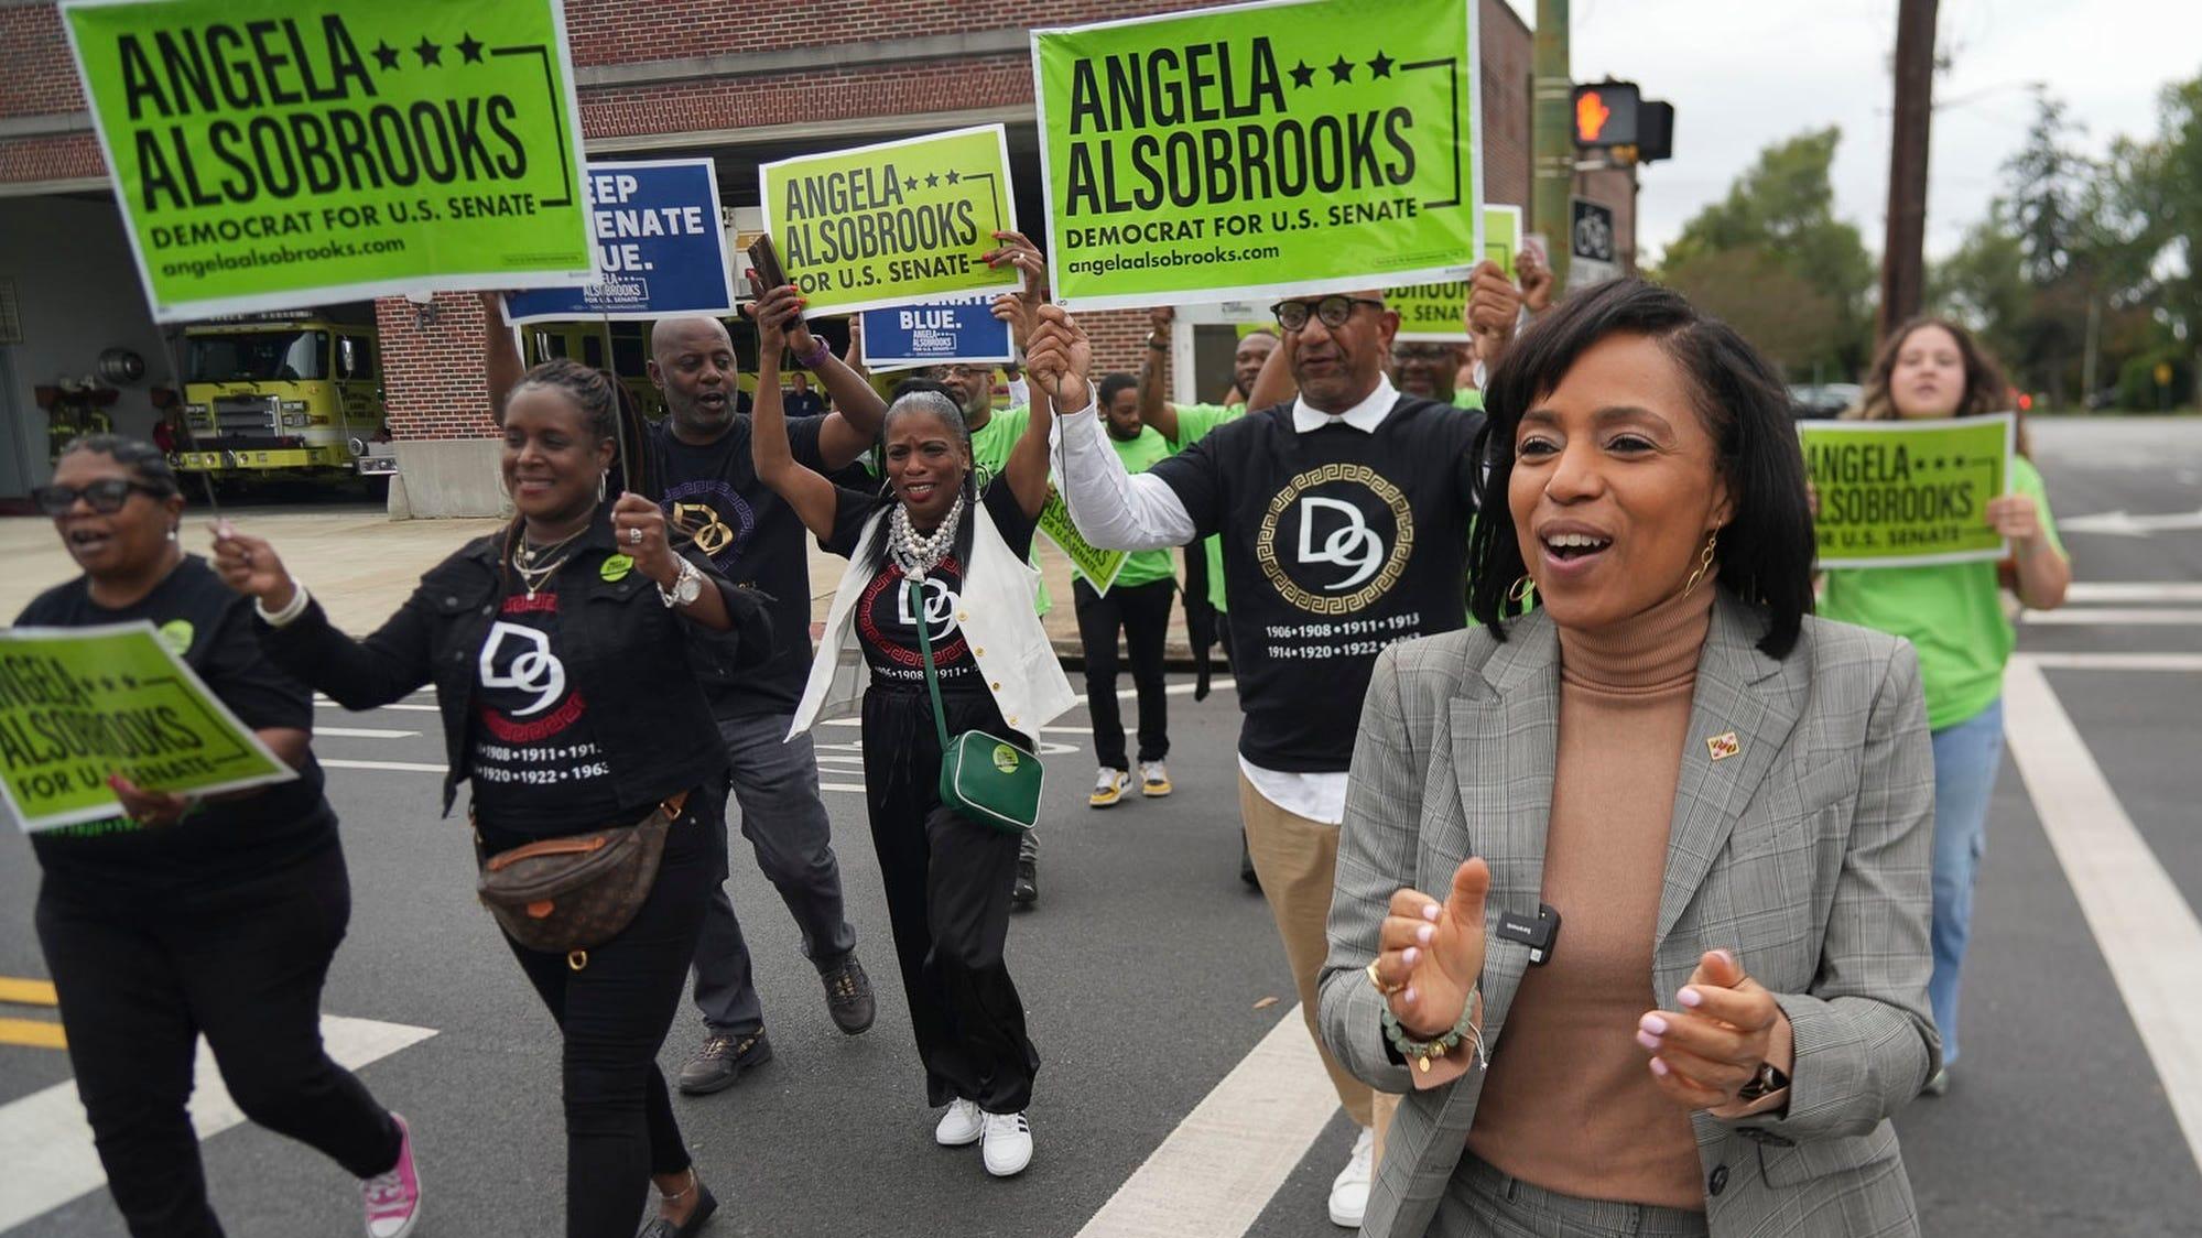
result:
<svg viewBox="0 0 2202 1238"><path fill-rule="evenodd" d="M568 1238L625 1238L645 1176L663 1196L650 1238L694 1234L718 1207L656 1053L724 877L707 822L727 753L696 674L771 654L762 595L676 553L654 500L603 498L617 436L634 425L621 397L573 361L528 370L502 423L520 518L432 568L366 641L335 630L266 542L216 537L222 575L260 599L277 665L348 709L436 685L445 811L469 780L484 853L630 824L687 793L650 897L584 967L506 938L564 1031Z"/></svg>

